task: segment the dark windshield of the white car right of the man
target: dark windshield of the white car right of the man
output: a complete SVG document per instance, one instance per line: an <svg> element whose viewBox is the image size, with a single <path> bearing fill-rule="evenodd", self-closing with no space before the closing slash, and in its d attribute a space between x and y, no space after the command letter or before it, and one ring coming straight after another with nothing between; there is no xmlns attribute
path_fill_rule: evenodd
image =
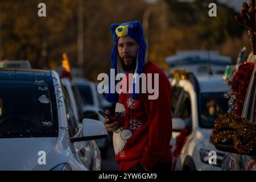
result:
<svg viewBox="0 0 256 182"><path fill-rule="evenodd" d="M200 127L212 128L217 116L228 112L228 99L224 94L224 92L218 92L199 95Z"/></svg>

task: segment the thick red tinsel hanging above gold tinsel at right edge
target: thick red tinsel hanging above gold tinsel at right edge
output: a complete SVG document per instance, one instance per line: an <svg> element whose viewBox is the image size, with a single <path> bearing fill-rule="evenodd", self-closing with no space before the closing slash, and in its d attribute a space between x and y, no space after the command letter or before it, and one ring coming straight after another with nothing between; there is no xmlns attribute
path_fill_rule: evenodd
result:
<svg viewBox="0 0 256 182"><path fill-rule="evenodd" d="M236 96L236 106L234 107L234 114L241 115L243 109L243 102L247 92L247 87L250 82L251 74L253 73L255 63L245 62L240 65L232 80L232 92Z"/></svg>

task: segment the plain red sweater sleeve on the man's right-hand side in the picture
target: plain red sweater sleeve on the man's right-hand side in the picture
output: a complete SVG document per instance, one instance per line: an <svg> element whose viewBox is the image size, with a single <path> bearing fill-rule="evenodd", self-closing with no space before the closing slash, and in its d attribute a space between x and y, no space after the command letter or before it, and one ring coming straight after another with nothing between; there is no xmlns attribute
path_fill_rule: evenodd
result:
<svg viewBox="0 0 256 182"><path fill-rule="evenodd" d="M153 85L155 84L153 83ZM170 82L160 76L158 98L149 100L150 94L146 94L145 105L149 118L149 135L141 164L147 169L151 169L159 158L165 155L167 150L170 150L172 135L171 94Z"/></svg>

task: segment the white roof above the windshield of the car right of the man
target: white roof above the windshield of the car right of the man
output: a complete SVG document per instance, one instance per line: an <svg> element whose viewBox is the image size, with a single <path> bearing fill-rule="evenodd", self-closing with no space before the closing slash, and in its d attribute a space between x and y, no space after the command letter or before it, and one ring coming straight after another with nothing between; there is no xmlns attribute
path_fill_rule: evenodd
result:
<svg viewBox="0 0 256 182"><path fill-rule="evenodd" d="M226 85L221 75L196 76L200 87L200 93L227 92L230 86Z"/></svg>

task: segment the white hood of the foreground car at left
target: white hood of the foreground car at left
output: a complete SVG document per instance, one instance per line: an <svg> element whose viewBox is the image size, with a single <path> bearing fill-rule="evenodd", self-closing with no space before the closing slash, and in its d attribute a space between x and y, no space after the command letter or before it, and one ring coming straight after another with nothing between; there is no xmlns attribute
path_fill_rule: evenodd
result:
<svg viewBox="0 0 256 182"><path fill-rule="evenodd" d="M11 138L0 139L0 171L49 170L47 154L55 146L57 138ZM39 165L39 151L46 152L46 165ZM43 168L42 168L43 167Z"/></svg>

